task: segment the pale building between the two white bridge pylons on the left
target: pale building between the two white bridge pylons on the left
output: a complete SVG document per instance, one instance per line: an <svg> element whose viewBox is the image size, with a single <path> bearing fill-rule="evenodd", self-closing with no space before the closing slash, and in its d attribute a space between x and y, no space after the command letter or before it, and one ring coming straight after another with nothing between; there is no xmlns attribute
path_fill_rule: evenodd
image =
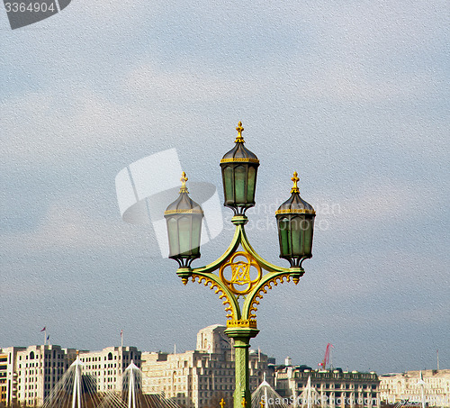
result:
<svg viewBox="0 0 450 408"><path fill-rule="evenodd" d="M131 361L140 367L140 351L135 347L107 347L101 351L80 351L83 375L91 376L97 392L120 391L121 375Z"/></svg>

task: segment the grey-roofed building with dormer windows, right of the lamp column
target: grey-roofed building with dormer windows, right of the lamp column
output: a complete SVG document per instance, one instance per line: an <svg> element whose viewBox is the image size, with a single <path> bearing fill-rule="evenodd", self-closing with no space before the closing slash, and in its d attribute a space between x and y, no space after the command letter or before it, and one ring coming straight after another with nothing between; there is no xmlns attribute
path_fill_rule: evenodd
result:
<svg viewBox="0 0 450 408"><path fill-rule="evenodd" d="M316 392L314 404L331 407L380 407L380 380L374 373L343 371L342 369L313 370L311 367L291 364L275 369L275 390L292 402L299 402L311 377L311 388ZM302 404L302 401L300 401Z"/></svg>

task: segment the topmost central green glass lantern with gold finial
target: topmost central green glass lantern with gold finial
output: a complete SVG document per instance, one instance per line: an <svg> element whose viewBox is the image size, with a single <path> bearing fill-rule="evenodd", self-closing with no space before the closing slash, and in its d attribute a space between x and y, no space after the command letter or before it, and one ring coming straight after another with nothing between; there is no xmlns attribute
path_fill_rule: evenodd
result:
<svg viewBox="0 0 450 408"><path fill-rule="evenodd" d="M232 208L235 215L244 215L247 208L255 205L257 187L257 156L244 146L242 122L238 122L236 145L220 160L224 205Z"/></svg>

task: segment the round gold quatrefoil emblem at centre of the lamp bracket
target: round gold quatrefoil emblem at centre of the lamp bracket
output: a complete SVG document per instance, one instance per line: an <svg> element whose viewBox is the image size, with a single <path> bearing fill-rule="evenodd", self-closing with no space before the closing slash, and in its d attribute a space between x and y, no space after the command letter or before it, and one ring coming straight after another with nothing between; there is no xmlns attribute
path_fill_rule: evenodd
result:
<svg viewBox="0 0 450 408"><path fill-rule="evenodd" d="M247 261L238 260L236 258L243 257ZM226 267L231 268L231 279L227 279L224 276L224 270ZM250 277L250 269L255 267L257 269L257 277L252 279ZM220 280L228 286L229 290L235 295L247 295L251 290L257 286L262 277L261 267L259 267L257 261L250 256L247 252L235 252L229 261L224 263L219 270Z"/></svg>

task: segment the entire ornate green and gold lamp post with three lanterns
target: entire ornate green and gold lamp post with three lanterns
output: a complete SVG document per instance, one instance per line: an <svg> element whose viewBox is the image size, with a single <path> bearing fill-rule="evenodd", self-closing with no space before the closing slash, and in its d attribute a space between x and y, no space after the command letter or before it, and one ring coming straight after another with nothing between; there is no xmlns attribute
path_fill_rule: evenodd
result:
<svg viewBox="0 0 450 408"><path fill-rule="evenodd" d="M293 280L299 283L304 274L302 262L311 258L312 233L315 212L302 200L293 174L291 197L275 212L280 241L280 258L287 259L291 267L277 267L257 254L248 242L245 225L246 211L255 205L257 186L257 156L244 146L242 123L236 128L235 146L220 160L224 205L231 208L231 222L236 226L229 248L220 258L205 267L191 267L193 259L200 258L200 233L203 212L199 204L189 197L183 173L180 195L164 214L170 247L170 258L178 262L176 274L184 285L189 278L210 286L219 295L227 312L229 338L234 340L236 385L234 408L250 408L248 349L250 339L257 336L257 305L267 289ZM240 247L240 248L239 248ZM263 275L263 269L266 273ZM214 273L215 271L218 273ZM238 304L238 298L244 302Z"/></svg>

